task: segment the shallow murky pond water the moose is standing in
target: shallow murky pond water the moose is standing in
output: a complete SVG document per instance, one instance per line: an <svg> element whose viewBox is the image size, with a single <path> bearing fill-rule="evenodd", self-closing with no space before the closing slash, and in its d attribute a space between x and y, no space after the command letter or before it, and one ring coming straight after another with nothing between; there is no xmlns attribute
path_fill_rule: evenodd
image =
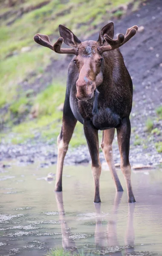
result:
<svg viewBox="0 0 162 256"><path fill-rule="evenodd" d="M64 191L55 193L55 176L46 178L55 171L13 164L0 172L1 256L41 256L62 246L113 256L162 255L162 170L132 172L136 204L127 204L126 191L116 194L106 170L102 203L94 204L90 166L64 166Z"/></svg>

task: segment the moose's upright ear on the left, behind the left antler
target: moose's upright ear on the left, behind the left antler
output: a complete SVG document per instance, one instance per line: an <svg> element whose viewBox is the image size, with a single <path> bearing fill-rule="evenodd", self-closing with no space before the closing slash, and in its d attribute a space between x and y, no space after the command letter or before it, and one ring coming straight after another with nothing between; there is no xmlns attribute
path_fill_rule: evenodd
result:
<svg viewBox="0 0 162 256"><path fill-rule="evenodd" d="M65 44L72 47L77 47L78 44L81 43L81 41L76 37L76 35L74 35L72 31L67 29L65 26L59 25L58 28L61 37L64 39Z"/></svg>

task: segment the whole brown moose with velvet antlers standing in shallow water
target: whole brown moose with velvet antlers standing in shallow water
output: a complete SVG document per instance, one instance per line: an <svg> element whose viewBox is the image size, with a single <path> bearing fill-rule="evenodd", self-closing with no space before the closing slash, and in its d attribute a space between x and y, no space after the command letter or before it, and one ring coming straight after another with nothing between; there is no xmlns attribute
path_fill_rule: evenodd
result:
<svg viewBox="0 0 162 256"><path fill-rule="evenodd" d="M103 131L101 148L115 182L116 191L123 191L113 161L112 143L115 128L128 202L136 202L131 185L129 162L131 131L129 116L132 108L133 84L119 47L130 40L137 30L138 26L132 26L127 29L125 35L119 34L114 40L114 24L110 22L101 29L98 41L81 42L72 31L59 25L61 37L54 45L51 44L47 35L34 36L36 43L57 53L75 55L69 64L62 128L57 140L58 164L55 191L62 191L64 157L76 122L79 121L83 124L92 159L91 168L95 183L94 202L101 203L98 130ZM63 41L72 48L61 48Z"/></svg>

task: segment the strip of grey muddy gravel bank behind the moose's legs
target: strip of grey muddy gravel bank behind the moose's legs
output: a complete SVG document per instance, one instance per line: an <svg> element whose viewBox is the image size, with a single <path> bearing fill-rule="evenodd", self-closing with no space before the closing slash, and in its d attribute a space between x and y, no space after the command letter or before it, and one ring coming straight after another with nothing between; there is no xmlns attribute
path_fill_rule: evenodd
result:
<svg viewBox="0 0 162 256"><path fill-rule="evenodd" d="M155 150L154 150L155 152ZM115 138L113 146L113 156L115 163L120 163L120 154ZM0 160L13 160L17 163L32 164L40 161L41 167L49 167L57 163L57 146L47 143L26 144L26 145L0 145ZM103 163L104 155L100 152L100 160ZM70 148L67 151L64 163L66 165L90 163L91 158L87 146ZM161 154L150 154L147 149L143 150L141 146L134 146L130 149L130 163L132 165L144 164L157 166L162 163Z"/></svg>

